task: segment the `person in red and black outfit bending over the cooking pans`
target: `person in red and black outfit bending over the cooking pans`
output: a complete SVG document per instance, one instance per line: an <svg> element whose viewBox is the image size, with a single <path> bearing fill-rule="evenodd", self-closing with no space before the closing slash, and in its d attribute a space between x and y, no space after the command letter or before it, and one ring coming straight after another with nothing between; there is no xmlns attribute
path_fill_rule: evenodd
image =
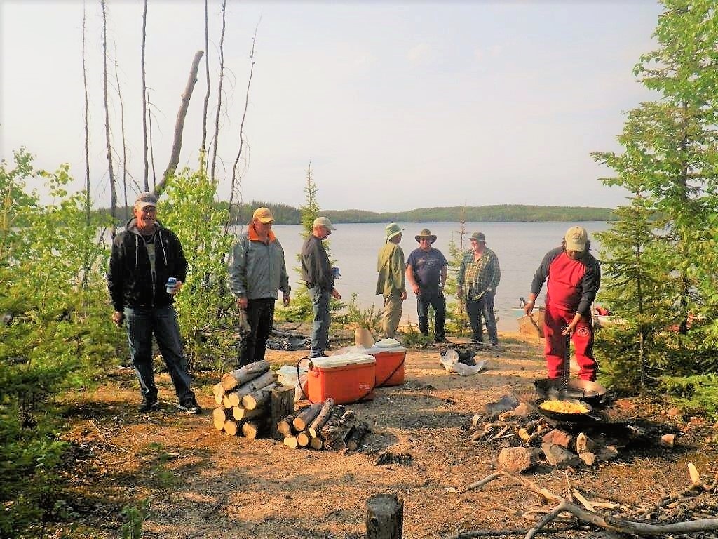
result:
<svg viewBox="0 0 718 539"><path fill-rule="evenodd" d="M589 254L591 242L586 229L572 226L564 236L561 247L551 249L533 275L529 301L524 306L531 314L541 287L546 285L544 336L546 337L546 369L549 378L564 376L567 335L574 342L579 378L595 380L597 365L593 358L593 324L591 304L601 283L601 269L597 259Z"/></svg>

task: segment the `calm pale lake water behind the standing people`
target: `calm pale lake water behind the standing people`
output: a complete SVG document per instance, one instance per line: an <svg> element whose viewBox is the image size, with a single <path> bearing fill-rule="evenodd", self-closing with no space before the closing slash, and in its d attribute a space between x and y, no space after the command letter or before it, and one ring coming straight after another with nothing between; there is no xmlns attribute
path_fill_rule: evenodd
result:
<svg viewBox="0 0 718 539"><path fill-rule="evenodd" d="M404 237L401 247L404 256L416 249L414 236L421 229L428 228L436 234L437 241L433 247L444 253L449 259L449 241L454 236L458 244L460 236L457 223L409 223L401 224ZM609 224L605 222L581 223L589 233L592 243L592 253L597 256L598 243L594 233L604 231ZM337 224L337 230L329 238L332 258L340 267L342 276L336 282L337 290L342 300L349 301L351 295L357 295L358 303L363 307L376 305L383 306L381 295L374 295L376 290L376 257L384 244L384 227L386 224ZM528 296L531 279L544 254L554 247L559 247L569 226L572 223L542 222L542 223L467 223L467 234L464 236L465 248L468 248L469 236L472 232L483 232L486 235L486 245L496 253L501 267L501 282L498 285L495 308L498 315L498 328L501 331L518 331L516 314L511 308L518 305L518 298ZM294 267L299 265L297 254L302 248L300 225L275 225L272 227L286 255L287 271L292 288L297 286L299 274ZM545 287L544 287L545 290ZM543 298L541 298L542 300ZM447 301L454 301L455 297L447 296ZM409 298L404 302L401 316L402 323L406 317L411 317L416 323L416 298L409 290Z"/></svg>

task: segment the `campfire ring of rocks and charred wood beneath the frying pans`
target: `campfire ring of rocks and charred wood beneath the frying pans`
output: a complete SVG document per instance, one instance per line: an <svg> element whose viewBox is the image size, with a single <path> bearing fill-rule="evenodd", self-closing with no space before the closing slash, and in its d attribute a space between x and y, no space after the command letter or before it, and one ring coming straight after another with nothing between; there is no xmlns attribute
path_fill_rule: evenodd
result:
<svg viewBox="0 0 718 539"><path fill-rule="evenodd" d="M577 469L597 466L602 461L616 459L620 449L636 443L655 443L672 446L666 438L671 435L649 433L637 425L610 435L602 432L602 425L583 430L554 428L541 414L531 411L526 403L511 395L496 402L488 402L481 413L473 416L472 432L468 440L502 446L496 456L498 469L521 473L536 464L558 469ZM656 438L653 440L653 438Z"/></svg>

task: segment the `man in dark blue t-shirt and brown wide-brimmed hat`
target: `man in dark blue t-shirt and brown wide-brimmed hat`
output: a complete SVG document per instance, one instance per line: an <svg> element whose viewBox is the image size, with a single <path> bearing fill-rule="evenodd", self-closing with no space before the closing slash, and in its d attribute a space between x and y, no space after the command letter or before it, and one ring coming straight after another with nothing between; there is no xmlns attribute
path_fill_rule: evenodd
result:
<svg viewBox="0 0 718 539"><path fill-rule="evenodd" d="M432 244L437 241L429 229L424 229L418 236L419 249L409 254L406 260L406 280L416 294L416 312L419 316L419 331L429 335L429 305L434 308L434 341L446 342L444 335L444 319L447 313L447 301L444 298L444 284L447 281L449 262L439 249Z"/></svg>

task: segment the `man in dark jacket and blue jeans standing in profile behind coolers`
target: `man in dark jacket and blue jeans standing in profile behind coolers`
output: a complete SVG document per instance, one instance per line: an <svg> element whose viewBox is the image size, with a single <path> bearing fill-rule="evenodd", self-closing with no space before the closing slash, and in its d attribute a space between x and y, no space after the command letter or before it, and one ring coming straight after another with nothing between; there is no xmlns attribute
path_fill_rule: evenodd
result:
<svg viewBox="0 0 718 539"><path fill-rule="evenodd" d="M332 321L330 296L335 300L342 299L334 287L332 265L322 244L332 234L332 230L336 230L332 221L326 217L317 217L312 224L312 234L302 245L302 279L307 283L314 310L311 357L323 356L329 344L329 326Z"/></svg>

